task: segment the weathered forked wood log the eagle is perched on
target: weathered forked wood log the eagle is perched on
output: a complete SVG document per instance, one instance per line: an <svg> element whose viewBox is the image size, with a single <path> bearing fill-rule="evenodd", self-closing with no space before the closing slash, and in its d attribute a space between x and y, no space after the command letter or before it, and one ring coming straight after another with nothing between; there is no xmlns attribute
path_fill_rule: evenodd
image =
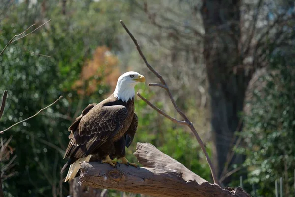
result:
<svg viewBox="0 0 295 197"><path fill-rule="evenodd" d="M116 189L155 197L250 197L240 187L222 189L194 174L149 143L138 143L134 153L144 167L82 162L83 186Z"/></svg>

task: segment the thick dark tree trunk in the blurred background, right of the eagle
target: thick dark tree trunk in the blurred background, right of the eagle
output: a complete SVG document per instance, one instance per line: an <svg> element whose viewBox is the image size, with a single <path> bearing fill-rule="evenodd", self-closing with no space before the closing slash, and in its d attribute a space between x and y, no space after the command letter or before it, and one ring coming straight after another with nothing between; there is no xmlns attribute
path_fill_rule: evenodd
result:
<svg viewBox="0 0 295 197"><path fill-rule="evenodd" d="M227 155L241 131L239 113L251 75L242 66L240 55L240 0L203 0L201 14L205 28L204 58L211 96L211 125L215 143L214 162L220 177L224 166L241 164L242 156ZM230 179L224 180L227 184Z"/></svg>

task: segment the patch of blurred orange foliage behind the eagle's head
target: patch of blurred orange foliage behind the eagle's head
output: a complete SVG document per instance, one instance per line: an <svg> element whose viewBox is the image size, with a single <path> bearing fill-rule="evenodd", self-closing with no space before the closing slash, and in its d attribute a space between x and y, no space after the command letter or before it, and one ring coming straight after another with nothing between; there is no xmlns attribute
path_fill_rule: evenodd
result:
<svg viewBox="0 0 295 197"><path fill-rule="evenodd" d="M74 83L73 88L78 94L88 96L98 91L99 84L107 84L114 90L120 76L117 64L118 58L106 46L97 47L93 59L84 64L80 79Z"/></svg>

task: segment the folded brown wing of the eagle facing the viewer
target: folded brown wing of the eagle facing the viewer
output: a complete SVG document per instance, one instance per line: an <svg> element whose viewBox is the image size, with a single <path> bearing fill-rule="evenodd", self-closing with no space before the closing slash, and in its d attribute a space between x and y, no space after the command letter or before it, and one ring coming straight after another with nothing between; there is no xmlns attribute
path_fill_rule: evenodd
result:
<svg viewBox="0 0 295 197"><path fill-rule="evenodd" d="M91 154L121 129L128 114L122 105L87 106L83 112L69 128L71 140L64 158Z"/></svg>

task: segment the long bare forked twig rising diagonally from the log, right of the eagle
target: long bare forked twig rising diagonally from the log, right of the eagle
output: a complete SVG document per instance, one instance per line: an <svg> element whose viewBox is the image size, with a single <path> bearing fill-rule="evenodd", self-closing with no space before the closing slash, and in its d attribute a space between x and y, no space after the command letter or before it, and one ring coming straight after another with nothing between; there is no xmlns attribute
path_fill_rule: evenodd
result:
<svg viewBox="0 0 295 197"><path fill-rule="evenodd" d="M154 106L152 103L150 103L147 99L145 99L143 96L141 96L139 93L137 93L137 95L143 99L143 101L145 101L149 106L151 106L153 109L155 109L158 113L162 114L163 116L165 116L166 118L170 119L171 121L175 122L175 123L178 123L178 124L181 124L181 125L187 125L191 131L194 133L204 155L206 156L206 159L207 159L207 162L209 164L209 167L210 167L210 170L211 170L211 174L212 174L212 178L213 178L213 181L215 184L219 185L220 186L220 183L219 183L219 180L216 176L216 173L215 173L215 170L213 168L213 164L211 162L211 159L209 158L209 155L205 149L205 146L204 146L204 143L203 141L201 140L199 134L197 133L195 127L193 126L193 123L187 118L187 116L178 108L175 100L173 99L173 96L172 96L172 93L168 87L168 85L166 84L165 80L163 79L163 77L157 72L154 70L154 68L148 63L147 59L145 58L143 52L141 51L141 48L140 46L138 45L137 43L137 40L134 38L134 36L132 35L132 33L128 30L128 28L125 26L124 22L122 20L120 20L120 23L122 24L123 28L126 30L126 32L129 34L129 36L131 37L131 39L133 40L135 46L136 46L136 49L138 51L138 53L140 54L140 56L142 57L142 59L144 60L146 66L148 67L148 69L153 72L158 78L159 80L161 81L162 84L149 84L149 86L158 86L158 87L161 87L163 89L165 89L170 97L170 100L174 106L174 108L177 110L177 112L182 116L182 118L184 119L184 121L178 121L176 120L175 118L172 118L170 116L168 116L164 111L160 110L159 108L157 108L156 106Z"/></svg>

